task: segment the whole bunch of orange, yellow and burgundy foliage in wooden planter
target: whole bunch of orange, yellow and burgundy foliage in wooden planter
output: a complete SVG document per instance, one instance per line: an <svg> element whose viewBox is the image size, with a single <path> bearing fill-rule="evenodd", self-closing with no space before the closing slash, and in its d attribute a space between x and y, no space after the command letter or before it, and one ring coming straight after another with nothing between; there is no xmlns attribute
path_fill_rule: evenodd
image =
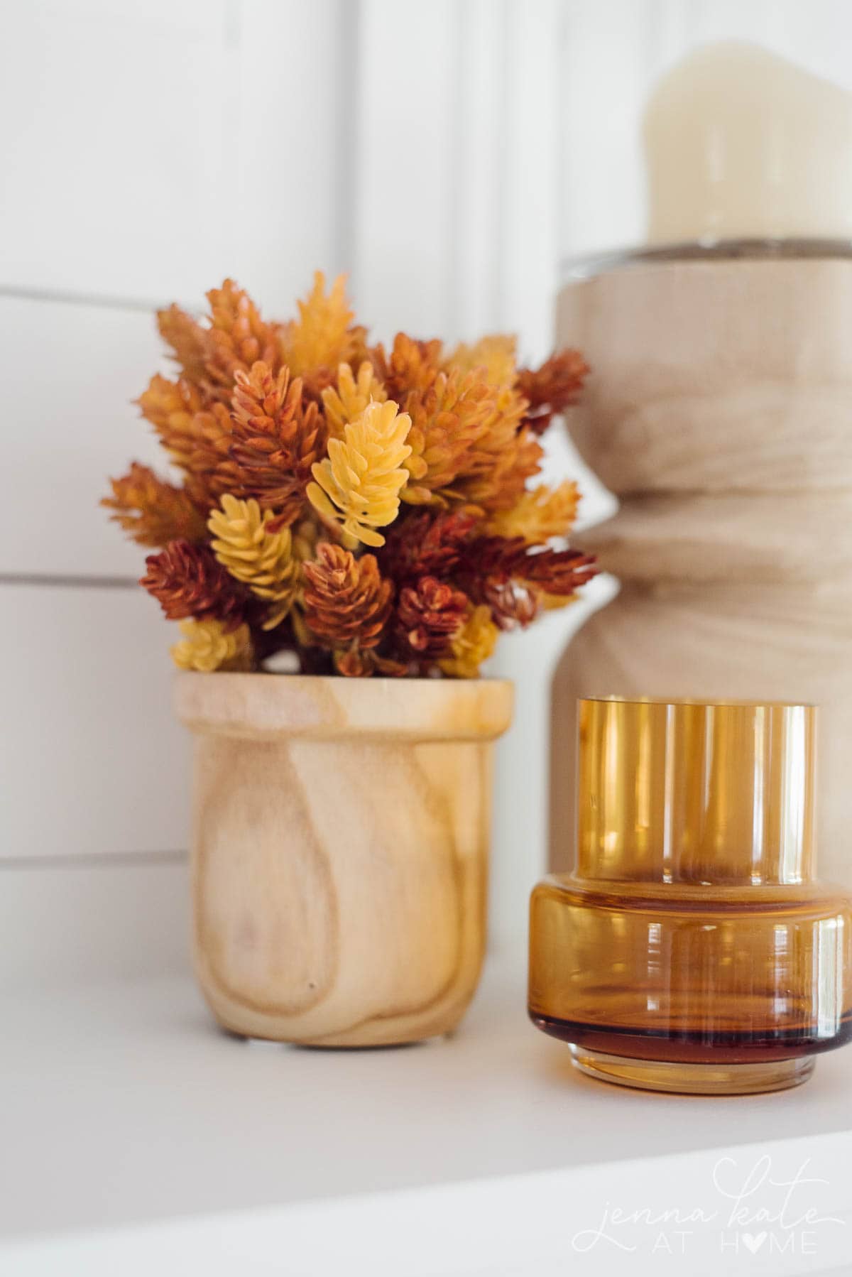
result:
<svg viewBox="0 0 852 1277"><path fill-rule="evenodd" d="M134 462L102 502L160 549L141 584L180 622L181 669L293 651L305 673L474 677L501 630L594 575L553 544L576 485L528 488L588 372L576 351L536 370L502 336L386 351L319 272L290 323L231 280L207 296L207 323L160 312L178 377L139 398L181 487Z"/></svg>

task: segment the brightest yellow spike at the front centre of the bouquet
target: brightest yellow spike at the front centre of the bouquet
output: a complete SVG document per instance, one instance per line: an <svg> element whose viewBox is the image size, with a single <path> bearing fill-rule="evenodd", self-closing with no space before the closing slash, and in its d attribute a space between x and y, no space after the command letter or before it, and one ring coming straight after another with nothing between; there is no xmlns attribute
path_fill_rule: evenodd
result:
<svg viewBox="0 0 852 1277"><path fill-rule="evenodd" d="M344 427L344 439L328 441L328 456L312 466L316 483L307 495L318 513L340 524L347 536L364 545L383 545L377 527L392 524L409 472L411 448L405 439L411 418L393 400L368 404Z"/></svg>

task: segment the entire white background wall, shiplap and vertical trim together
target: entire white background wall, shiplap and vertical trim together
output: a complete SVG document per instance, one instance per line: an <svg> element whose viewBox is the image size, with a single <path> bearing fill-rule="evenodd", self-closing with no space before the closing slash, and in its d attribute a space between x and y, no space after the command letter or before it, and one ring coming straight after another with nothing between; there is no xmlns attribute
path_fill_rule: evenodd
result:
<svg viewBox="0 0 852 1277"><path fill-rule="evenodd" d="M160 358L152 308L198 306L227 273L286 313L319 266L349 271L378 336L515 329L542 358L561 253L640 232L634 140L651 75L695 38L801 42L802 9L819 9L841 59L849 23L829 0L3 8L0 932L13 974L183 960L189 751L169 704L169 627L133 585L142 553L97 507L107 474L155 456L130 405ZM576 469L558 435L552 451L554 474ZM602 508L593 495L585 515ZM579 616L505 640L497 661L519 684L498 761L498 932L522 927L544 863L548 682Z"/></svg>

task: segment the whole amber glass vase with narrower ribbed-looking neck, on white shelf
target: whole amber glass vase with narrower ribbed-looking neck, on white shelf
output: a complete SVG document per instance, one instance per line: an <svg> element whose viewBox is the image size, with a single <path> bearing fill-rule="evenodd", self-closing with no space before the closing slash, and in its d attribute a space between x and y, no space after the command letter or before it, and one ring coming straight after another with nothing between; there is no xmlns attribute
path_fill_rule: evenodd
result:
<svg viewBox="0 0 852 1277"><path fill-rule="evenodd" d="M584 1073L778 1091L852 1037L852 903L814 872L815 719L580 702L576 871L533 891L529 1011Z"/></svg>

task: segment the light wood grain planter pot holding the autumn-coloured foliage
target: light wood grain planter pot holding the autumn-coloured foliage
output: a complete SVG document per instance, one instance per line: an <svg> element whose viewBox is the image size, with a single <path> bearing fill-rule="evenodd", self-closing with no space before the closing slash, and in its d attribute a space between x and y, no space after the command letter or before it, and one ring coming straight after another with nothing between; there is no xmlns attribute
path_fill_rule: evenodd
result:
<svg viewBox="0 0 852 1277"><path fill-rule="evenodd" d="M179 674L195 734L194 962L225 1028L446 1033L485 942L492 681Z"/></svg>

